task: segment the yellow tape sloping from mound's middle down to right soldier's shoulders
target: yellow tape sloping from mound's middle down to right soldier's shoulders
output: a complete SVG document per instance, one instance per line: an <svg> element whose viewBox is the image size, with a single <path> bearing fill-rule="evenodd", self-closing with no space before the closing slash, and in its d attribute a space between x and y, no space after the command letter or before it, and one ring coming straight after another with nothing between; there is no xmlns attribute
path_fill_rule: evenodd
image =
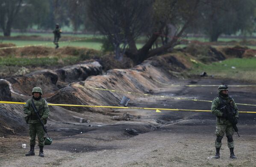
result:
<svg viewBox="0 0 256 167"><path fill-rule="evenodd" d="M136 92L126 92L126 91L118 91L118 90L112 90L112 89L104 89L104 88L95 88L91 86L82 86L79 84L74 84L74 86L77 87L85 87L85 88L90 88L90 89L96 89L96 90L101 90L101 91L111 91L111 92L118 92L118 93L129 93L129 94L136 94L136 95L142 95L142 96L157 96L157 97L162 97L162 98L170 98L170 99L178 99L178 100L191 100L191 101L196 101L196 102L212 102L211 100L200 100L200 99L189 99L185 97L172 97L172 96L165 96L165 95L153 95L153 94L145 94L145 93L136 93ZM244 103L235 103L237 105L248 105L248 106L256 106L253 104L244 104Z"/></svg>

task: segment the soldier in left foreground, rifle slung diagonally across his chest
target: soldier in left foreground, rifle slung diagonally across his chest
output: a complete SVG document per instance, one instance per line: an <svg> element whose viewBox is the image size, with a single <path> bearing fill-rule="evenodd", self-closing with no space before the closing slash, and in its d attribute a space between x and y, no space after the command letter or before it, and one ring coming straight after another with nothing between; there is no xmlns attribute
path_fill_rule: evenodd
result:
<svg viewBox="0 0 256 167"><path fill-rule="evenodd" d="M35 87L32 90L32 99L34 101L35 107L38 110L39 116L44 124L47 122L47 118L49 116L50 110L47 102L41 98L42 90L39 87ZM38 117L32 108L32 102L29 99L26 102L26 105L23 108L24 113L29 116L29 136L30 136L30 151L25 154L25 156L35 156L34 148L35 148L35 137L38 136L38 145L39 145L39 155L40 157L44 157L44 129L41 123L38 120Z"/></svg>

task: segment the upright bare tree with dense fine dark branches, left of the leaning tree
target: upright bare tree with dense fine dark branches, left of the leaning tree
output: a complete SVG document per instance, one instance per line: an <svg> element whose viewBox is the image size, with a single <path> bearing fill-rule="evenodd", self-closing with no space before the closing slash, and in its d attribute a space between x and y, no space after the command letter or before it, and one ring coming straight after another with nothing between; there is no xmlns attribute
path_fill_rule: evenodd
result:
<svg viewBox="0 0 256 167"><path fill-rule="evenodd" d="M117 59L127 46L136 52L135 40L151 24L151 0L88 0L87 12L95 27L112 42Z"/></svg>

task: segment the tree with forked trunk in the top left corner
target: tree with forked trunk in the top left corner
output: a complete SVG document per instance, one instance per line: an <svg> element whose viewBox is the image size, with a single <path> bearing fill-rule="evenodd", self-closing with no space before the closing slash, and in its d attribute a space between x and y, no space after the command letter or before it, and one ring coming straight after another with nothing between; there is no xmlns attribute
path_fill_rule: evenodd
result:
<svg viewBox="0 0 256 167"><path fill-rule="evenodd" d="M0 0L0 26L3 35L11 35L12 24L21 9L22 0Z"/></svg>

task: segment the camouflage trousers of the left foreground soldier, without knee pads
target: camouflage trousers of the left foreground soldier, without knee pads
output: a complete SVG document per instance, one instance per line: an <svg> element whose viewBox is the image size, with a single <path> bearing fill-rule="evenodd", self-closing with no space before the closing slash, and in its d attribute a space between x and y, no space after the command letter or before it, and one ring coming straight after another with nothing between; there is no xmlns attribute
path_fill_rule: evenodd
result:
<svg viewBox="0 0 256 167"><path fill-rule="evenodd" d="M35 144L35 137L38 137L38 145L44 145L44 129L40 123L29 124L30 145Z"/></svg>

